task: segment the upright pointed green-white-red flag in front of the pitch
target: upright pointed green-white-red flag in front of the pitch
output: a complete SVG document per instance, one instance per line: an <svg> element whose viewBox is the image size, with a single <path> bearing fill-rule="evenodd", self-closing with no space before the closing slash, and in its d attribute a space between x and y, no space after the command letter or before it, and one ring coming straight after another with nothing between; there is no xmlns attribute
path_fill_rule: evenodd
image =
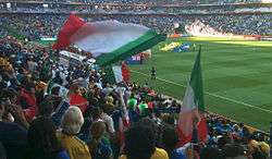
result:
<svg viewBox="0 0 272 159"><path fill-rule="evenodd" d="M199 49L199 52L197 54L194 69L190 74L190 81L186 88L183 99L183 106L180 112L178 146L183 146L191 142L193 138L194 140L205 142L208 135L206 119L203 115L205 102L203 102L202 75L200 66L200 51L201 49ZM196 123L197 129L193 133L194 121Z"/></svg>

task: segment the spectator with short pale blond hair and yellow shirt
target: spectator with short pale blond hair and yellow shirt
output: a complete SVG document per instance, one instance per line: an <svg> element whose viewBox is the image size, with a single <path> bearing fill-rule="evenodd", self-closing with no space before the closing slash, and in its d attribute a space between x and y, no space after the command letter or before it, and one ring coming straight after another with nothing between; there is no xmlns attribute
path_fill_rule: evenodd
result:
<svg viewBox="0 0 272 159"><path fill-rule="evenodd" d="M61 146L69 152L70 159L90 159L88 146L75 135L84 123L78 107L71 106L62 117L62 131L57 133Z"/></svg>

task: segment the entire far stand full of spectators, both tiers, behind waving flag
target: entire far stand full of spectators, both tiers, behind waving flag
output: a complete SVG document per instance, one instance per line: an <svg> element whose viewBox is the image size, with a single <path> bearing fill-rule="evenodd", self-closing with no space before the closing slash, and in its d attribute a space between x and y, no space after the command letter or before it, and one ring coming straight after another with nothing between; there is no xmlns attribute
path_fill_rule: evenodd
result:
<svg viewBox="0 0 272 159"><path fill-rule="evenodd" d="M11 29L15 29L30 39L55 37L71 12L89 22L118 20L146 25L166 34L174 33L178 27L180 33L197 36L272 35L272 3L226 1L218 4L208 1L211 3L206 4L207 1L197 0L172 0L168 4L163 0L145 4L138 2L1 1L0 35L8 35Z"/></svg>

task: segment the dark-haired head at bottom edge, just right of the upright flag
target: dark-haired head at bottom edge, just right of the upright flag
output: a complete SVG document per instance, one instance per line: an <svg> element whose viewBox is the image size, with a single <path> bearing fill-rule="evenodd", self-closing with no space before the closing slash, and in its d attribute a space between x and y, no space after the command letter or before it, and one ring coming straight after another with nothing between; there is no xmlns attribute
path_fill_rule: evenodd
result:
<svg viewBox="0 0 272 159"><path fill-rule="evenodd" d="M224 156L218 148L206 147L200 152L200 159L224 159Z"/></svg>

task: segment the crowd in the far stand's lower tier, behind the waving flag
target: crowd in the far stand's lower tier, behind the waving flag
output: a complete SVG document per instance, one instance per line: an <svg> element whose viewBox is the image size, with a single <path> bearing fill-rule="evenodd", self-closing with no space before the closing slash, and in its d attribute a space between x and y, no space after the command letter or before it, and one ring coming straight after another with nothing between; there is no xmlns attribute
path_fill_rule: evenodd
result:
<svg viewBox="0 0 272 159"><path fill-rule="evenodd" d="M67 15L54 14L2 14L0 25L14 28L30 39L55 37ZM152 15L152 14L94 14L83 15L89 22L118 20L124 23L136 23L148 26L160 33L174 33L174 24L178 23L182 33L191 35L272 35L271 14L255 15ZM198 25L201 24L201 25ZM185 29L186 28L186 29ZM210 29L214 32L210 32ZM1 35L8 35L5 27L0 28Z"/></svg>

